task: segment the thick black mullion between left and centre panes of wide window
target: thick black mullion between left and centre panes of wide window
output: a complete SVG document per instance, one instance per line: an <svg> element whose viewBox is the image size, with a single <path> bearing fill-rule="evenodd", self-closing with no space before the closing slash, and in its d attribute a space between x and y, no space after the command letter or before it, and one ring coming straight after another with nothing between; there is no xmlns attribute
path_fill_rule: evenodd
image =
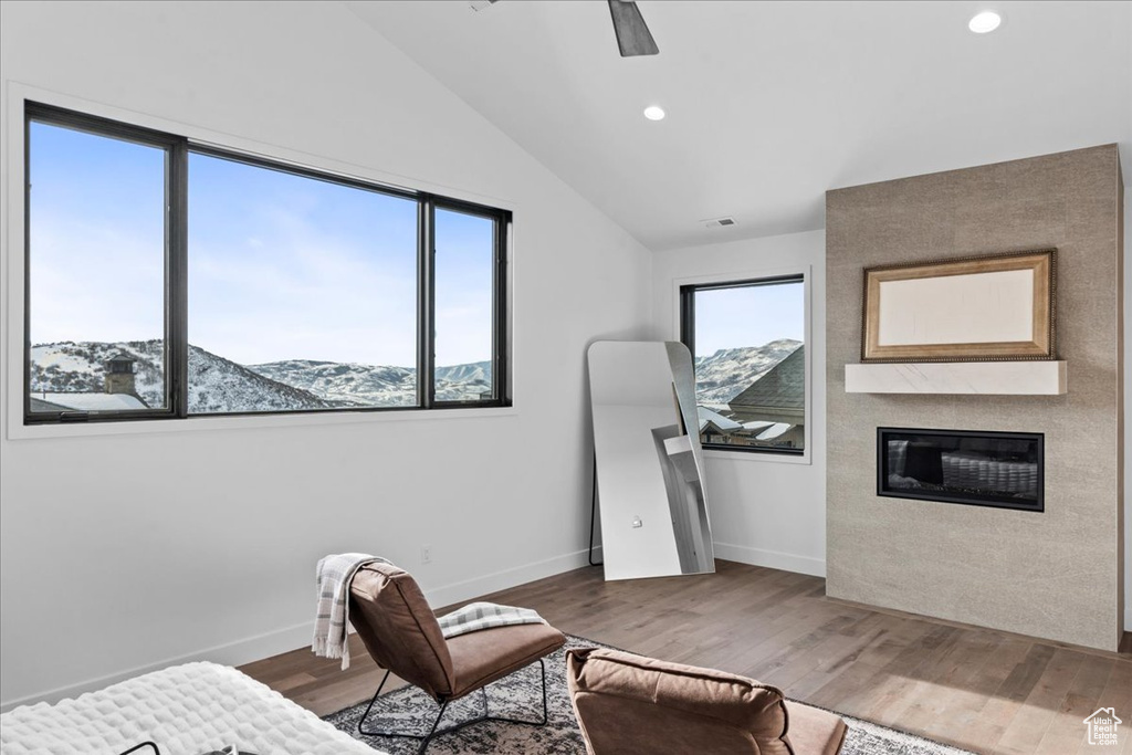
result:
<svg viewBox="0 0 1132 755"><path fill-rule="evenodd" d="M189 148L183 139L170 149L166 191L165 401L174 417L185 418L189 413Z"/></svg>

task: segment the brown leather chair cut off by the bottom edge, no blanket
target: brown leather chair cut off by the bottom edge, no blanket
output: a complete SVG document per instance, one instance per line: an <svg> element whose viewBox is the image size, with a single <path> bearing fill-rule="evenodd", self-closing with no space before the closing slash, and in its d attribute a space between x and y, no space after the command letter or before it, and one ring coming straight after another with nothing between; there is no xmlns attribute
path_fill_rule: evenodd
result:
<svg viewBox="0 0 1132 755"><path fill-rule="evenodd" d="M837 755L846 724L746 677L617 650L566 654L590 755Z"/></svg>

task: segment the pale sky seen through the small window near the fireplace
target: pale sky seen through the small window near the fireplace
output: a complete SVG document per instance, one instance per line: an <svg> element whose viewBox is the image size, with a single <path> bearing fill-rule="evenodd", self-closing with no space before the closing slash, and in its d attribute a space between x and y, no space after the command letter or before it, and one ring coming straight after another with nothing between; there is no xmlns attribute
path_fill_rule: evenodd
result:
<svg viewBox="0 0 1132 755"><path fill-rule="evenodd" d="M778 338L804 341L801 283L709 289L696 292L696 355L761 346Z"/></svg>

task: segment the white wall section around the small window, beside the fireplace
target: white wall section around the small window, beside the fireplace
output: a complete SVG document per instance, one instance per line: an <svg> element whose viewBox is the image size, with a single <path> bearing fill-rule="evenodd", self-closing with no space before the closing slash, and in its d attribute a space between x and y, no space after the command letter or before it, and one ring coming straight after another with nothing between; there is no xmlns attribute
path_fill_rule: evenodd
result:
<svg viewBox="0 0 1132 755"><path fill-rule="evenodd" d="M719 558L825 574L825 233L812 231L659 252L653 337L679 340L676 290L709 280L809 271L809 452L806 463L707 452L707 498Z"/></svg>

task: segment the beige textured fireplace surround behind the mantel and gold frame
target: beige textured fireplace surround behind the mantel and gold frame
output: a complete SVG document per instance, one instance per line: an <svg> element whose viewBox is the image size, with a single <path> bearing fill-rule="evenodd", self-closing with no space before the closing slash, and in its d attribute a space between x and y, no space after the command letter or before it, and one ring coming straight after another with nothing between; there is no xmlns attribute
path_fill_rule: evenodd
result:
<svg viewBox="0 0 1132 755"><path fill-rule="evenodd" d="M1115 145L826 195L829 595L1116 650L1122 201ZM1066 394L846 393L864 268L1049 247ZM1044 434L1045 511L878 497L878 427Z"/></svg>

